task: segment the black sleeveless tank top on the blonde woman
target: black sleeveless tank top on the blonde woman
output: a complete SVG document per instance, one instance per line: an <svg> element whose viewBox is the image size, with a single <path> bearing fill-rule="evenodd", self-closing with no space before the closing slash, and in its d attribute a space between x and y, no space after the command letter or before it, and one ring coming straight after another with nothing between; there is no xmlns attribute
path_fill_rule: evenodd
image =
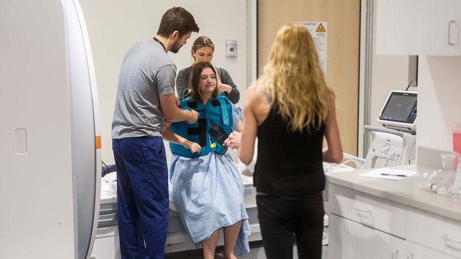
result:
<svg viewBox="0 0 461 259"><path fill-rule="evenodd" d="M257 128L258 155L254 174L256 190L269 195L298 196L321 192L325 187L322 141L319 130L288 132L287 123L271 108Z"/></svg>

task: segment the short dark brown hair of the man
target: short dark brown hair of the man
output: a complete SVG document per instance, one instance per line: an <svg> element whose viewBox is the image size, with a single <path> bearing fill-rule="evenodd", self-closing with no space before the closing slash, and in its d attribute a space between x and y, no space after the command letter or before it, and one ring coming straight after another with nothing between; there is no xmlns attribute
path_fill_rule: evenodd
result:
<svg viewBox="0 0 461 259"><path fill-rule="evenodd" d="M163 37L170 36L174 31L179 31L179 37L189 32L199 32L199 25L186 9L173 7L165 12L158 26L157 34Z"/></svg>

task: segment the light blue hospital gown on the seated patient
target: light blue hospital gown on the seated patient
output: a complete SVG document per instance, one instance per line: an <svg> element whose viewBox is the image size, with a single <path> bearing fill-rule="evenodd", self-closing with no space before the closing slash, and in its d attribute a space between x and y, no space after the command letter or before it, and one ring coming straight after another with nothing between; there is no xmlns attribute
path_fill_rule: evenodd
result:
<svg viewBox="0 0 461 259"><path fill-rule="evenodd" d="M232 130L241 118L242 110L232 105ZM250 252L244 187L229 153L211 152L198 158L172 154L170 181L179 217L197 248L215 230L242 220L234 253L239 256Z"/></svg>

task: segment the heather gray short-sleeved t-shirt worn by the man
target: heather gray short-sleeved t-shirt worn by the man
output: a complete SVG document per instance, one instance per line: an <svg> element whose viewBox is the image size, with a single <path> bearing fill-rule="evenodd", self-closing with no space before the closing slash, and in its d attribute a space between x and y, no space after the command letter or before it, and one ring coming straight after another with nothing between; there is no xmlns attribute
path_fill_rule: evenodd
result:
<svg viewBox="0 0 461 259"><path fill-rule="evenodd" d="M161 136L159 94L174 93L176 66L153 40L131 47L120 68L112 120L112 138Z"/></svg>

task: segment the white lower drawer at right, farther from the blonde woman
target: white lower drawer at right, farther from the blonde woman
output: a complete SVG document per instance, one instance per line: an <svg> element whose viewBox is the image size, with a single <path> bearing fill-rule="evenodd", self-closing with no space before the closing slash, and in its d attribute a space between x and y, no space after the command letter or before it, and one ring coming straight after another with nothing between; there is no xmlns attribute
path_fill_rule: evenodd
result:
<svg viewBox="0 0 461 259"><path fill-rule="evenodd" d="M461 258L461 221L408 208L407 239Z"/></svg>

